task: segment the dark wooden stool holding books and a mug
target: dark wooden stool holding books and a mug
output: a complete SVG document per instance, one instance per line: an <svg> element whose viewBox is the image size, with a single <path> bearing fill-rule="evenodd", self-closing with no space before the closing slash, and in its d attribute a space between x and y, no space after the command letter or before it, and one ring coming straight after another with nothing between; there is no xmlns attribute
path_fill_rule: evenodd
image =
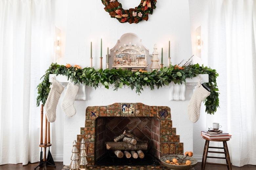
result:
<svg viewBox="0 0 256 170"><path fill-rule="evenodd" d="M213 165L225 165L225 166L227 166L228 170L232 170L231 162L230 162L230 157L229 157L229 153L228 153L228 148L227 148L227 141L229 141L229 139L208 139L208 138L205 138L204 136L203 136L203 139L205 139L205 144L204 144L204 149L203 149L203 159L202 159L201 169L204 170L205 164L213 164ZM223 142L223 147L212 147L212 146L209 146L210 141ZM209 148L224 149L224 152L208 151ZM207 156L208 152L209 153L223 153L223 154L225 154L225 157ZM226 160L226 164L224 164L224 163L206 162L207 158L225 159Z"/></svg>

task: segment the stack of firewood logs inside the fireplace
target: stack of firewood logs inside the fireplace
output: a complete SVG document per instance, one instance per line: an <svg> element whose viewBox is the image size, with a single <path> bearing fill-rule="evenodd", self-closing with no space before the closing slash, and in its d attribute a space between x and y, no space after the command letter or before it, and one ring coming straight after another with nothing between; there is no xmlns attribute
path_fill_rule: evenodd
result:
<svg viewBox="0 0 256 170"><path fill-rule="evenodd" d="M124 131L123 134L117 136L114 142L106 142L107 150L114 150L117 158L144 158L142 150L148 149L148 142L142 141L136 137L131 130ZM123 152L122 152L122 151Z"/></svg>

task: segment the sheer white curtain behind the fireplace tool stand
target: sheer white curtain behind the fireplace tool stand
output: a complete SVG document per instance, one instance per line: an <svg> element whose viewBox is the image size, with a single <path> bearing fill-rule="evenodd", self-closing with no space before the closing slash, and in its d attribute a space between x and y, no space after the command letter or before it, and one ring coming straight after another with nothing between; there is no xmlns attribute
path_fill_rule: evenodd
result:
<svg viewBox="0 0 256 170"><path fill-rule="evenodd" d="M53 61L50 0L0 0L0 164L39 161L36 86Z"/></svg>

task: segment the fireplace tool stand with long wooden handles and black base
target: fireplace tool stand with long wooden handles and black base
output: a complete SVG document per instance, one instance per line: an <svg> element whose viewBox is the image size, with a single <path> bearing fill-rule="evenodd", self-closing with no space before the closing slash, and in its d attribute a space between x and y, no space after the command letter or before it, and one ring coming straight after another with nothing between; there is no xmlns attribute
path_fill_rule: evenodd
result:
<svg viewBox="0 0 256 170"><path fill-rule="evenodd" d="M56 168L56 165L53 161L53 156L50 151L50 146L52 146L51 139L50 139L50 122L47 121L46 115L45 115L45 138L44 138L44 144L43 144L43 115L44 115L44 106L41 105L41 139L39 144L39 147L41 147L40 162L39 162L39 165L37 165L34 169L38 167L48 166L48 165L54 166ZM47 126L48 126L48 131L47 131ZM48 140L47 140L47 135L48 135ZM48 155L46 157L47 147L49 147L49 149L48 149ZM43 157L42 148L44 148L44 158L42 158Z"/></svg>

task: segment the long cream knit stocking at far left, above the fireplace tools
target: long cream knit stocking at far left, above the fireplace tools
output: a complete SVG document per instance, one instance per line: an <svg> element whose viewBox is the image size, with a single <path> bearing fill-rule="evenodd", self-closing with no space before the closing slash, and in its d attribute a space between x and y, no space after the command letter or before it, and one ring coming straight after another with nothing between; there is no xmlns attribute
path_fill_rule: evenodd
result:
<svg viewBox="0 0 256 170"><path fill-rule="evenodd" d="M56 107L64 87L58 81L53 79L53 84L50 86L50 88L51 90L46 99L44 108L46 110L45 114L48 122L54 122L56 119Z"/></svg>

